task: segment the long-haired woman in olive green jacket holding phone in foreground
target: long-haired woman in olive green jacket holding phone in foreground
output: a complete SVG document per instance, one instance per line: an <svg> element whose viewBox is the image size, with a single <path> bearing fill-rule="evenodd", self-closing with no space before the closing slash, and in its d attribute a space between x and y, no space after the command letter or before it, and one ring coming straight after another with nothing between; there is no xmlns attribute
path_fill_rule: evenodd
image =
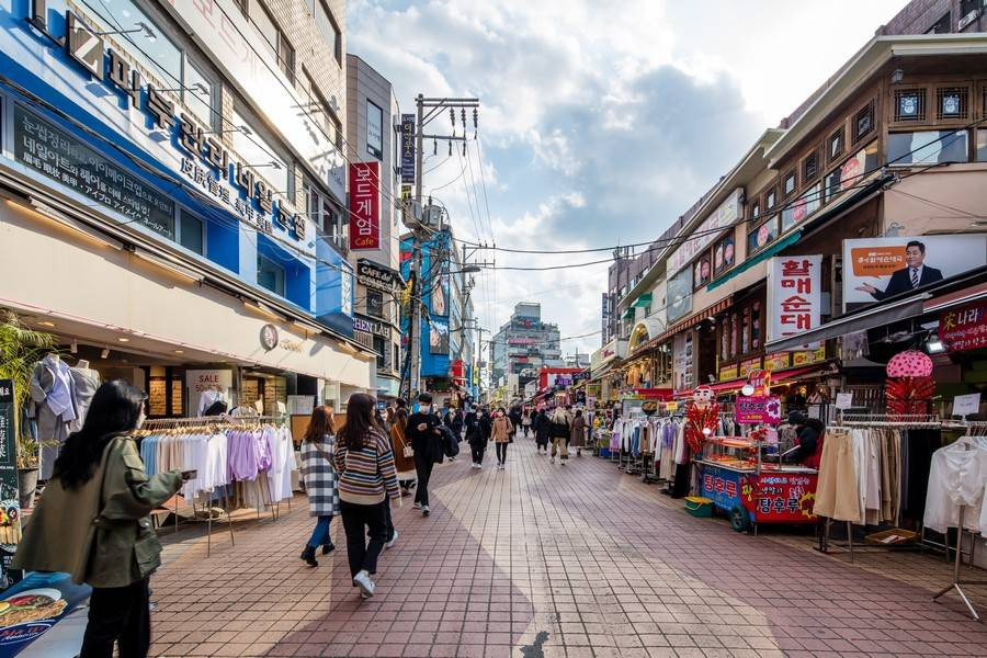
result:
<svg viewBox="0 0 987 658"><path fill-rule="evenodd" d="M195 472L148 477L131 435L147 396L121 381L97 390L82 429L55 461L52 479L18 546L13 567L67 571L92 587L80 658L143 658L150 647L148 579L161 544L148 514Z"/></svg>

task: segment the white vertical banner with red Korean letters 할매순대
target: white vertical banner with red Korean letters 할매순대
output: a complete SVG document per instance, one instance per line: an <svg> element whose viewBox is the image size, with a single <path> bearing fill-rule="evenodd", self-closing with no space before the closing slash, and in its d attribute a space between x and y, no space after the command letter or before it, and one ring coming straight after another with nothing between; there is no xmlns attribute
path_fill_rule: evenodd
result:
<svg viewBox="0 0 987 658"><path fill-rule="evenodd" d="M821 256L768 261L768 340L805 333L821 321Z"/></svg>

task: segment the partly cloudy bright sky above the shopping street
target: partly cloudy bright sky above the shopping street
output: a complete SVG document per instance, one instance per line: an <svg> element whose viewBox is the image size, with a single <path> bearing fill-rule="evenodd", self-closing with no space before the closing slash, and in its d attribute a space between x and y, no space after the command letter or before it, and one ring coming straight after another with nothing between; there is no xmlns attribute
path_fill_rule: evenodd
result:
<svg viewBox="0 0 987 658"><path fill-rule="evenodd" d="M531 251L476 261L565 265L475 275L480 325L496 332L517 302L540 302L564 353L590 353L609 263L576 265L656 239L905 3L350 0L347 49L402 112L418 93L480 99L465 157L426 144L426 193L456 238ZM451 129L447 113L429 125ZM591 248L609 249L557 253Z"/></svg>

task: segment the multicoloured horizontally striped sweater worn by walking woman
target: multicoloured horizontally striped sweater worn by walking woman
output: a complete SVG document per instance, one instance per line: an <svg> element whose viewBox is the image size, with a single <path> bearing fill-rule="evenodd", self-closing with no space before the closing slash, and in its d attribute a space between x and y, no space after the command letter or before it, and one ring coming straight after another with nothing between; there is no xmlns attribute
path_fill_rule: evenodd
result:
<svg viewBox="0 0 987 658"><path fill-rule="evenodd" d="M355 504L384 502L385 494L400 498L394 453L383 434L371 431L363 450L336 444L336 469L339 473L339 499Z"/></svg>

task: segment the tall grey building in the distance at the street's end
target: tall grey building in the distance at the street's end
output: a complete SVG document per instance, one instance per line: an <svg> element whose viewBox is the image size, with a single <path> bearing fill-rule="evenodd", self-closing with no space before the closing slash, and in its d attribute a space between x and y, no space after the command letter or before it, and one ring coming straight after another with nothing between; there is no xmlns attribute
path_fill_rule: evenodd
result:
<svg viewBox="0 0 987 658"><path fill-rule="evenodd" d="M495 387L519 396L524 385L537 379L542 367L561 367L558 325L542 321L542 305L520 302L490 344Z"/></svg>

